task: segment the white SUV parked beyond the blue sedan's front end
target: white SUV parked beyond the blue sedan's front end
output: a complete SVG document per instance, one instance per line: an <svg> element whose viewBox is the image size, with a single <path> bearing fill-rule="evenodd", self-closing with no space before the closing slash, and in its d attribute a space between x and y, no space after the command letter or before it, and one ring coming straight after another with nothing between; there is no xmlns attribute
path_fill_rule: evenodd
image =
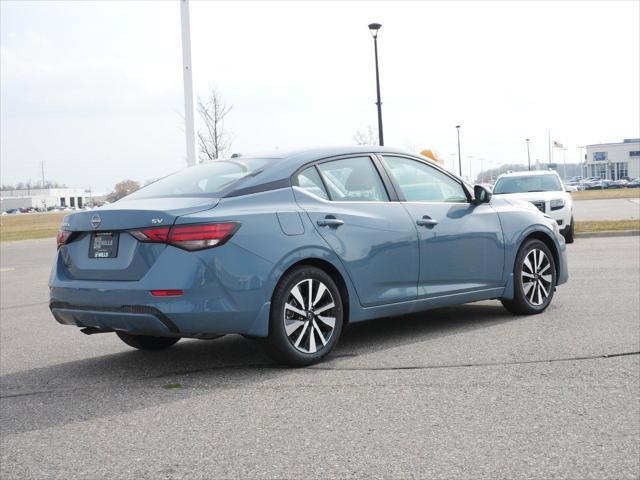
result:
<svg viewBox="0 0 640 480"><path fill-rule="evenodd" d="M498 177L493 195L526 200L553 218L567 243L573 243L573 199L553 170L505 173Z"/></svg>

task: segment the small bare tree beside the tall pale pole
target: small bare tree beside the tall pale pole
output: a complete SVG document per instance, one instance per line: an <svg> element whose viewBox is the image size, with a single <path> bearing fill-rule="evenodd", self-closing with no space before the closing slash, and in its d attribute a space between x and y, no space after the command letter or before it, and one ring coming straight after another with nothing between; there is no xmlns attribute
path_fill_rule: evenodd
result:
<svg viewBox="0 0 640 480"><path fill-rule="evenodd" d="M210 87L209 96L204 100L198 97L198 113L204 124L204 131L198 131L201 162L224 157L231 147L231 140L224 129L224 117L231 108L215 86Z"/></svg>

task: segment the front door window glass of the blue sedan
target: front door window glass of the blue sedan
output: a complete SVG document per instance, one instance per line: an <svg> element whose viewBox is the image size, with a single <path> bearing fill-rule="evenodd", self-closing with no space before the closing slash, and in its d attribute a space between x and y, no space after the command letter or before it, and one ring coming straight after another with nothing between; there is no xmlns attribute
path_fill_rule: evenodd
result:
<svg viewBox="0 0 640 480"><path fill-rule="evenodd" d="M462 185L417 160L383 156L408 202L466 202Z"/></svg>

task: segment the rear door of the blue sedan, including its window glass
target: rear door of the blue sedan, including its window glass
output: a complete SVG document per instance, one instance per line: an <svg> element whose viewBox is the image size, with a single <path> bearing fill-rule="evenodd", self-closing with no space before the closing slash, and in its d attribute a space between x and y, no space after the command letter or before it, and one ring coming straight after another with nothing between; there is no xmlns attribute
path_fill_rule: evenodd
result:
<svg viewBox="0 0 640 480"><path fill-rule="evenodd" d="M368 155L318 162L293 179L296 201L340 257L364 306L417 296L416 228L390 201L377 162Z"/></svg>

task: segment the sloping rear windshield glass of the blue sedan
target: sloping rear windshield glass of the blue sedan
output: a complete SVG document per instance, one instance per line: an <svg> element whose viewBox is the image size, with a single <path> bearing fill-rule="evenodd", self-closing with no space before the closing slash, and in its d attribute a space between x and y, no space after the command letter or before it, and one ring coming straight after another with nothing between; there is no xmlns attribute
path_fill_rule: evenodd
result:
<svg viewBox="0 0 640 480"><path fill-rule="evenodd" d="M125 199L215 197L238 180L260 173L268 162L266 158L213 160L161 178Z"/></svg>

